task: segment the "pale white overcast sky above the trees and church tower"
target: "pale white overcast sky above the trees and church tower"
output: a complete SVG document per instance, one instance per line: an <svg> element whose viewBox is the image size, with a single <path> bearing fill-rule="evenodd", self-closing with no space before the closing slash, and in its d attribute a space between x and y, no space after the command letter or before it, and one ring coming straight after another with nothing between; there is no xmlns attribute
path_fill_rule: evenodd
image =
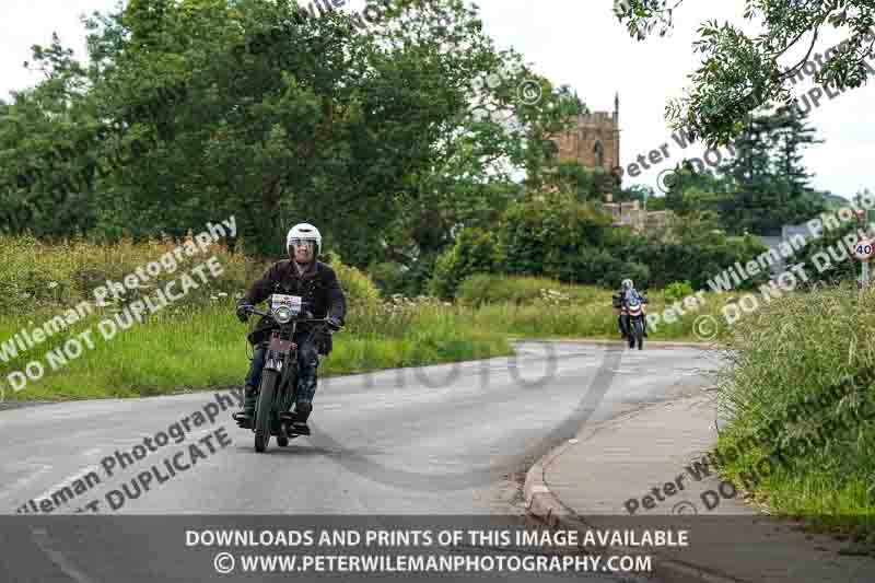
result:
<svg viewBox="0 0 875 583"><path fill-rule="evenodd" d="M308 0L307 0L308 1ZM33 85L39 78L22 63L33 44L48 44L57 32L65 46L84 58L85 30L80 15L114 8L117 0L2 0L0 21L0 97L11 90ZM612 110L614 93L620 94L620 159L627 166L639 154L668 142L669 161L657 164L635 182L656 186L661 171L682 155L700 156L695 144L681 151L670 139L664 108L670 97L688 85L687 75L698 62L692 54L696 28L705 20L743 22L744 0L689 0L676 14L670 37L631 39L612 14L614 0L479 0L486 32L499 48L514 47L537 71L557 84L569 84L593 110ZM350 0L360 10L364 0ZM848 32L821 34L821 51L848 36ZM807 38L806 38L807 40ZM798 58L803 51L790 55ZM875 61L873 62L875 66ZM810 81L797 85L801 94ZM824 100L814 110L812 124L826 142L810 148L805 163L815 173L814 186L850 197L864 187L875 189L875 81L836 97Z"/></svg>

